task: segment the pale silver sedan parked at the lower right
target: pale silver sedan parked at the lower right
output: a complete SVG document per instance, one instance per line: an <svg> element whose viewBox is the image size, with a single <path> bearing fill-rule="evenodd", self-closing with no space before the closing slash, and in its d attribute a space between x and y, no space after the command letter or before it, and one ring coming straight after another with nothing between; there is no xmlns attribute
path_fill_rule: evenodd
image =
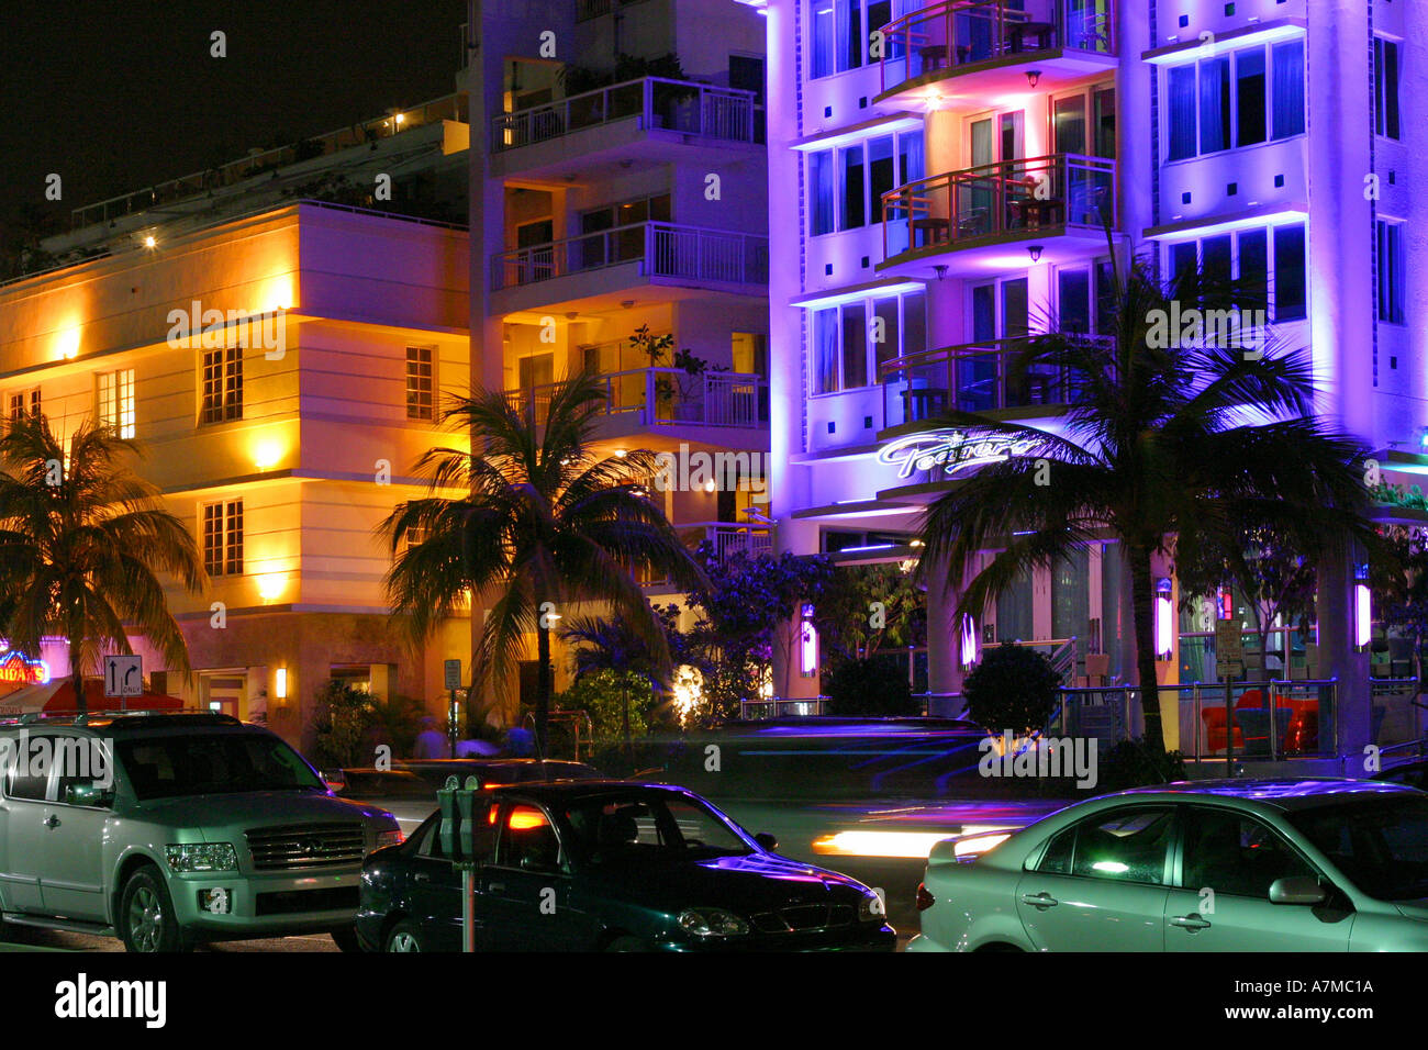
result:
<svg viewBox="0 0 1428 1050"><path fill-rule="evenodd" d="M1371 780L1102 796L940 841L910 951L1424 951L1428 797Z"/></svg>

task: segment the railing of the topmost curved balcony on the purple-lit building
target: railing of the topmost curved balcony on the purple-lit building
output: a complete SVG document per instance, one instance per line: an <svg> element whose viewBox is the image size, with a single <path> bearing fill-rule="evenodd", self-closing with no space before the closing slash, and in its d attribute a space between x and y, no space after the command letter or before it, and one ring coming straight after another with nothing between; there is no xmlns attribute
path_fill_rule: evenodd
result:
<svg viewBox="0 0 1428 1050"><path fill-rule="evenodd" d="M942 0L883 27L883 90L938 70L964 70L1071 47L1115 54L1110 0Z"/></svg>

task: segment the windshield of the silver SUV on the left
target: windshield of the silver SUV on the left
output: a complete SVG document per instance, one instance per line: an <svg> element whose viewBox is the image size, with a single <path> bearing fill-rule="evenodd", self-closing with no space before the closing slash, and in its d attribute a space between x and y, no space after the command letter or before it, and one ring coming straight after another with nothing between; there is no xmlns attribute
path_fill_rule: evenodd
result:
<svg viewBox="0 0 1428 1050"><path fill-rule="evenodd" d="M236 791L327 790L297 751L266 733L120 740L114 750L134 794L141 800Z"/></svg>

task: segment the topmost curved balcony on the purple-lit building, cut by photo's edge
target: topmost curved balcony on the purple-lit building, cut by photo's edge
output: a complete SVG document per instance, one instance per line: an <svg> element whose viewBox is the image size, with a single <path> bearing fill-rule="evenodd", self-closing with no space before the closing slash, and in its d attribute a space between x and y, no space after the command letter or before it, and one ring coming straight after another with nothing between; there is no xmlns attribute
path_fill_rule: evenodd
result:
<svg viewBox="0 0 1428 1050"><path fill-rule="evenodd" d="M877 101L925 101L942 89L978 99L1057 90L1115 67L1110 0L942 0L883 27ZM941 81L957 79L955 86ZM920 90L921 89L921 90Z"/></svg>

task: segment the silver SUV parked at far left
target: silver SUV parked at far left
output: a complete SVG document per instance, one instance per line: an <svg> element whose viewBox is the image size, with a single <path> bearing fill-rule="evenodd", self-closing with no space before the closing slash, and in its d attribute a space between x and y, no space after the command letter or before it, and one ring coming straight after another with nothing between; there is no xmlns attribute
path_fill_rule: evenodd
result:
<svg viewBox="0 0 1428 1050"><path fill-rule="evenodd" d="M357 950L363 859L401 841L226 714L0 724L0 919L130 951L317 931Z"/></svg>

